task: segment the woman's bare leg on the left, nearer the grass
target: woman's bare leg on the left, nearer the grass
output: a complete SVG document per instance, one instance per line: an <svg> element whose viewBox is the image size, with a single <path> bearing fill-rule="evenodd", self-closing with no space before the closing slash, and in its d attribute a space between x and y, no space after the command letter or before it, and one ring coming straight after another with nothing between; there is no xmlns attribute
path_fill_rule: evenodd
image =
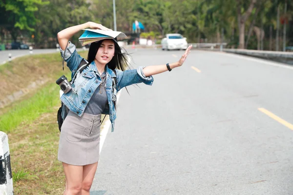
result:
<svg viewBox="0 0 293 195"><path fill-rule="evenodd" d="M63 195L81 195L83 183L83 166L62 163L66 178L66 187Z"/></svg>

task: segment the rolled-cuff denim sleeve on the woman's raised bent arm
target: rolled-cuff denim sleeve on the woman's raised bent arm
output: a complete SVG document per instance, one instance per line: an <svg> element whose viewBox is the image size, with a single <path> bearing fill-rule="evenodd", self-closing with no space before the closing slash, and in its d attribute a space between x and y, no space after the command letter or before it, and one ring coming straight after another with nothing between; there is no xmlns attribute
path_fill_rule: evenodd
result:
<svg viewBox="0 0 293 195"><path fill-rule="evenodd" d="M82 61L82 57L77 53L76 46L69 41L69 45L66 48L65 51L65 57L64 57L64 51L60 47L61 57L64 58L64 60L67 62L67 67L72 72L71 78L74 75L75 71L78 68L78 65Z"/></svg>

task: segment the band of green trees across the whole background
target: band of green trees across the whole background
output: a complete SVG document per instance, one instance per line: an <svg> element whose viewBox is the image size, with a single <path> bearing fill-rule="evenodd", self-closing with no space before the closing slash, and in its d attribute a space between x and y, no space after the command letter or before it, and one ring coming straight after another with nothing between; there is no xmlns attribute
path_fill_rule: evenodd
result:
<svg viewBox="0 0 293 195"><path fill-rule="evenodd" d="M239 45L240 41L241 45L245 42L251 48L255 44L252 40L257 38L251 30L254 26L265 30L265 41L270 37L275 39L277 7L281 21L288 21L287 45L293 44L290 25L293 23L293 1L290 0L116 0L117 30L130 35L132 23L138 20L145 26L144 33L156 32L161 36L180 33L190 42L208 39L208 42L225 41L230 46ZM50 0L50 3L46 0L2 0L0 16L5 19L0 23L2 40L5 33L14 40L23 35L37 47L55 47L60 30L86 21L114 29L112 0ZM281 36L283 24L279 32ZM81 33L72 38L76 44ZM264 45L268 49L269 44Z"/></svg>

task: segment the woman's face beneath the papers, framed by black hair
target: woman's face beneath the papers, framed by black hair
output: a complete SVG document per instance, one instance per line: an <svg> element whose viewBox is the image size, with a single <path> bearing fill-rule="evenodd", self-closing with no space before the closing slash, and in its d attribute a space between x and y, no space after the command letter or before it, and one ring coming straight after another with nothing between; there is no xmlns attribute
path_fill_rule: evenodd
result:
<svg viewBox="0 0 293 195"><path fill-rule="evenodd" d="M103 40L98 52L96 60L101 64L107 64L115 55L114 41L110 39Z"/></svg>

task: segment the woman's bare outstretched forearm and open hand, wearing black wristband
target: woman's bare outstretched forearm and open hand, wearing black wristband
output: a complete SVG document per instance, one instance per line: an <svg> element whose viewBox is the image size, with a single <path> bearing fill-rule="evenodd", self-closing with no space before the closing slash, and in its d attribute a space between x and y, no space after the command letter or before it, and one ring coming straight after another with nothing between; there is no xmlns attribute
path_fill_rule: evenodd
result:
<svg viewBox="0 0 293 195"><path fill-rule="evenodd" d="M184 63L185 59L188 57L188 54L190 53L190 49L191 49L192 45L189 45L189 47L185 50L185 53L182 55L181 59L179 59L179 61L174 62L174 63L169 63L169 66L171 69L182 66L182 64ZM153 66L146 66L143 69L144 75L146 77L149 77L151 75L156 75L156 74L160 74L163 72L168 71L166 64L164 65L153 65Z"/></svg>

